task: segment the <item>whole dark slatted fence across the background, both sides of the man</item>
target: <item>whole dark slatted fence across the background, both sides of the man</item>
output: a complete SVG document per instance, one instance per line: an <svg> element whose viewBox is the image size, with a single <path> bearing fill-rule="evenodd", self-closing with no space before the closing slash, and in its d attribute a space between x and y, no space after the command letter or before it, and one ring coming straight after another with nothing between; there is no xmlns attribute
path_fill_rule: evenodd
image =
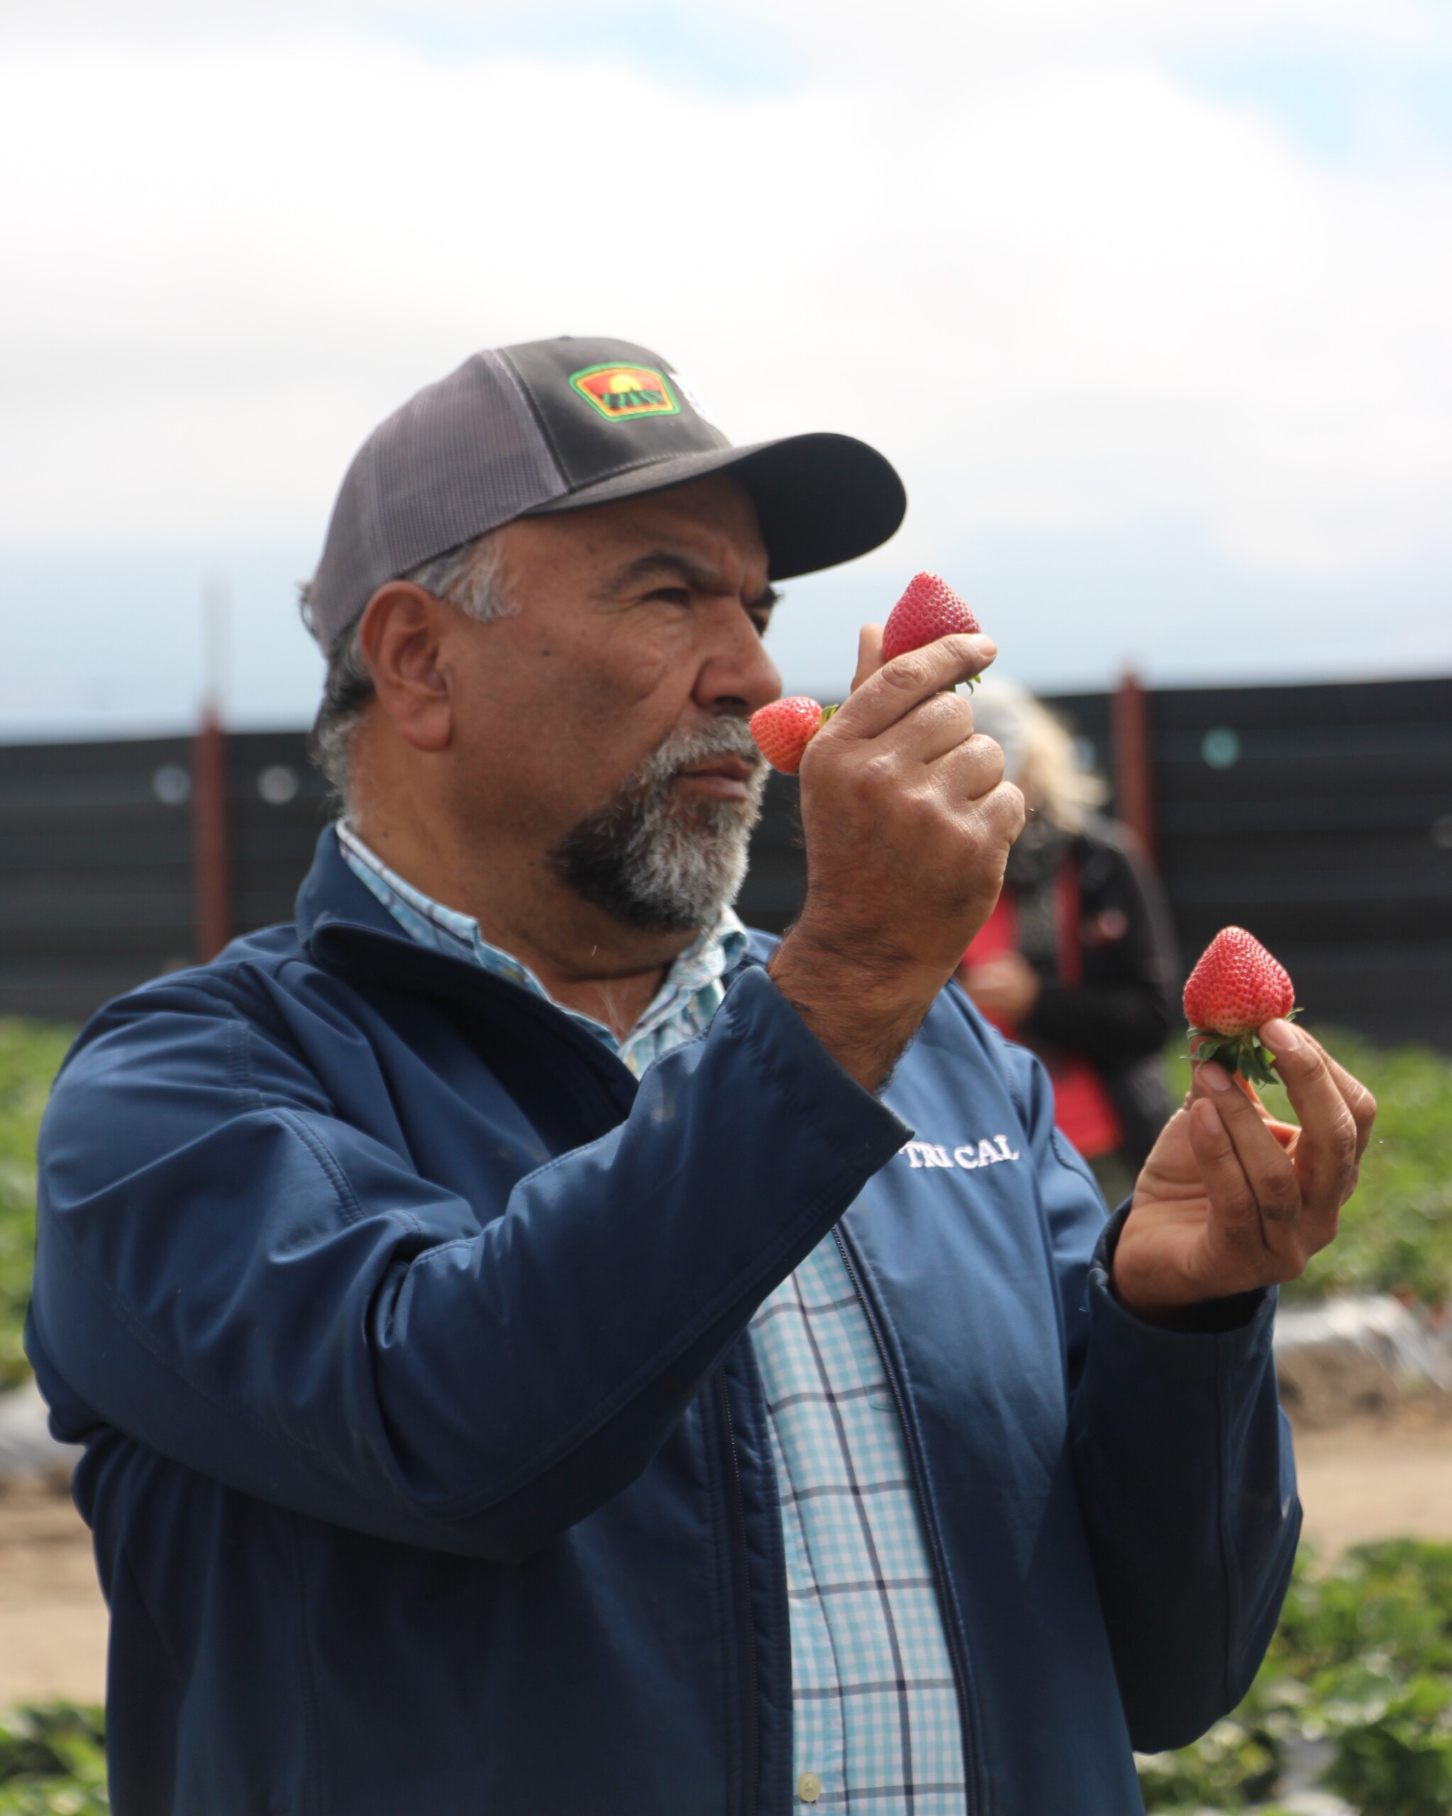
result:
<svg viewBox="0 0 1452 1816"><path fill-rule="evenodd" d="M1187 961L1249 926L1312 1021L1452 1050L1452 679L1147 697L1158 855ZM1105 774L1113 696L1051 705ZM76 1019L196 957L191 739L0 746L0 1012ZM299 732L227 739L231 919L285 921L325 823ZM741 910L780 932L806 866L773 775Z"/></svg>

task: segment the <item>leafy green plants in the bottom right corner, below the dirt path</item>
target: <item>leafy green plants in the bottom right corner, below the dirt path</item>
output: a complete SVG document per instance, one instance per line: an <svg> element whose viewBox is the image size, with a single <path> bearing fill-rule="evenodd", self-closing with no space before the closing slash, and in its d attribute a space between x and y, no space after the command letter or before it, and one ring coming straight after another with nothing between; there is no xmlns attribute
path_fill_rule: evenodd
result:
<svg viewBox="0 0 1452 1816"><path fill-rule="evenodd" d="M1452 1809L1452 1545L1358 1545L1329 1571L1303 1547L1251 1694L1203 1740L1140 1760L1151 1811L1243 1811L1294 1740L1325 1742L1321 1789L1363 1816Z"/></svg>

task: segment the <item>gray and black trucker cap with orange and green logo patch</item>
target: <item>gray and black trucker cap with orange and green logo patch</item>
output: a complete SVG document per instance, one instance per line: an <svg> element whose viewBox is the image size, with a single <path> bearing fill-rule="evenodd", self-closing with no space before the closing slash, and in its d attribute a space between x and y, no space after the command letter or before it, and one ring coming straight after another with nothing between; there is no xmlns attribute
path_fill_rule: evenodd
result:
<svg viewBox="0 0 1452 1816"><path fill-rule="evenodd" d="M329 648L385 581L514 518L724 470L751 494L771 579L877 548L908 508L891 465L851 436L731 447L648 347L561 336L476 352L354 456L309 588L312 632Z"/></svg>

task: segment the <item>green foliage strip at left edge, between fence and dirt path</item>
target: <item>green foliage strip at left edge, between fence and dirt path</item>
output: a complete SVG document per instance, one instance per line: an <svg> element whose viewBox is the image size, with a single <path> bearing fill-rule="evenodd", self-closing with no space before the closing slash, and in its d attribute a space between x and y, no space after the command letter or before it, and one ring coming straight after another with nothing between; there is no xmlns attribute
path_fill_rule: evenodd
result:
<svg viewBox="0 0 1452 1816"><path fill-rule="evenodd" d="M0 1021L0 1391L29 1373L20 1327L34 1255L34 1137L69 1044L67 1028Z"/></svg>

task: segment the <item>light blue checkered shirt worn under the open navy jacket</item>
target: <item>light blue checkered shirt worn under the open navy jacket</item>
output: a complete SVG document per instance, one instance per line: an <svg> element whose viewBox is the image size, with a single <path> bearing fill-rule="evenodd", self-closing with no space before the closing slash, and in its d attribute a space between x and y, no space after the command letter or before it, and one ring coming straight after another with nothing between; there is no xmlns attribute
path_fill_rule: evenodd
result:
<svg viewBox="0 0 1452 1816"><path fill-rule="evenodd" d="M407 933L548 997L477 921L412 888L347 824L338 839ZM639 1077L708 1026L744 952L746 930L726 908L623 1041L564 1013ZM795 1796L857 1816L964 1816L958 1694L902 1422L835 1237L760 1306L751 1346L782 1504Z"/></svg>

